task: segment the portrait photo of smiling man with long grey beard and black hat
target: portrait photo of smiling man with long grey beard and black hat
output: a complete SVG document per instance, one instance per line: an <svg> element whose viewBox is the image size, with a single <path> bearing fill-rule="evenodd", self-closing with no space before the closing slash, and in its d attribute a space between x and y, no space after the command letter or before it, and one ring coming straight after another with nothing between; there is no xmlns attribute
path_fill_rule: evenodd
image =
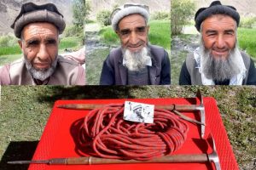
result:
<svg viewBox="0 0 256 170"><path fill-rule="evenodd" d="M256 14L249 1L247 8L233 1L190 3L189 20L172 31L173 84L255 85Z"/></svg>

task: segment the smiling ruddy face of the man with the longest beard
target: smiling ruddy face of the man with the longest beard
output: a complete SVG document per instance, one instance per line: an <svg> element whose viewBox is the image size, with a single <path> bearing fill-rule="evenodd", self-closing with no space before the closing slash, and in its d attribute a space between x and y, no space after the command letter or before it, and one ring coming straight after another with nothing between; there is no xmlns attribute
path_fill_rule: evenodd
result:
<svg viewBox="0 0 256 170"><path fill-rule="evenodd" d="M224 14L214 14L202 23L204 46L214 58L226 59L236 45L236 21Z"/></svg>

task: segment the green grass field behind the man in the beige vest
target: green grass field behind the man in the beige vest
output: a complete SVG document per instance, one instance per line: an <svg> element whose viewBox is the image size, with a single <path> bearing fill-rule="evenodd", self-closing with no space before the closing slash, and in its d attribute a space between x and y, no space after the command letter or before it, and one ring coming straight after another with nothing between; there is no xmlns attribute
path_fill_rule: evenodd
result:
<svg viewBox="0 0 256 170"><path fill-rule="evenodd" d="M65 49L78 50L81 46L82 40L80 37L63 37L59 46L59 54L64 53ZM10 63L21 56L18 42L14 47L0 47L0 65Z"/></svg>

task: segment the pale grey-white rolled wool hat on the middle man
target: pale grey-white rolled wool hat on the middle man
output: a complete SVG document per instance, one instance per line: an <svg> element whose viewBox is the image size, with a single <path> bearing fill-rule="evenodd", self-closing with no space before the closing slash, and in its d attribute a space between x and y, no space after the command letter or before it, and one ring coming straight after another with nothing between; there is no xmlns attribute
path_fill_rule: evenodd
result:
<svg viewBox="0 0 256 170"><path fill-rule="evenodd" d="M119 21L130 14L141 14L143 15L146 23L148 23L149 11L147 5L138 3L125 3L123 6L114 9L111 14L110 19L113 30L117 31Z"/></svg>

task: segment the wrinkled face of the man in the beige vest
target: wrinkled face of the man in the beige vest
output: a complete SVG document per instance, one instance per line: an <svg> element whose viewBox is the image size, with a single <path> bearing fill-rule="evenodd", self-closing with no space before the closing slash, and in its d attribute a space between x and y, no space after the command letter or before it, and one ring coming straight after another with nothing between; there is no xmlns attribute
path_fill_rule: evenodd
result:
<svg viewBox="0 0 256 170"><path fill-rule="evenodd" d="M19 45L33 69L46 71L58 54L58 31L46 22L31 23L23 28Z"/></svg>

